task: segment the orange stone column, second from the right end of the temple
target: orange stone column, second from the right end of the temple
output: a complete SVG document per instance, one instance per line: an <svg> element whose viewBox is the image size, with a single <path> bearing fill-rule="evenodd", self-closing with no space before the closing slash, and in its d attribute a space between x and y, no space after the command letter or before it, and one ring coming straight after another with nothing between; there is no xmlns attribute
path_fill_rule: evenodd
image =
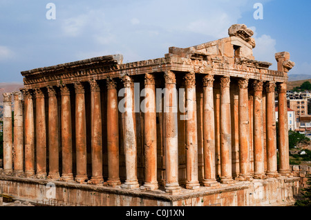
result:
<svg viewBox="0 0 311 220"><path fill-rule="evenodd" d="M267 176L278 177L276 161L276 121L275 121L275 83L269 81L266 88L266 129L267 129Z"/></svg>

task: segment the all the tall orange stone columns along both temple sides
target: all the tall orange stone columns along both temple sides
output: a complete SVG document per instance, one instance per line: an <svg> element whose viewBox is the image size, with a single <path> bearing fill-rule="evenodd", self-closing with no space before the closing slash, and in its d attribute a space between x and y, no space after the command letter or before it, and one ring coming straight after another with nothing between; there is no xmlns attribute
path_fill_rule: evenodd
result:
<svg viewBox="0 0 311 220"><path fill-rule="evenodd" d="M164 147L166 183L165 189L169 193L180 191L178 183L178 117L177 117L177 93L176 76L174 72L164 72ZM184 77L186 88L186 188L196 190L200 187L198 181L198 137L197 137L197 113L196 113L196 77L189 72ZM122 78L125 95L124 111L124 151L126 163L126 181L124 188L138 188L137 177L137 143L135 134L135 111L133 79L129 76ZM102 184L102 110L100 103L100 87L96 81L90 81L91 85L91 156L92 177L88 183ZM276 177L276 123L274 114L274 90L275 83L266 82L266 109L263 109L263 81L254 81L254 178L263 178L265 174ZM77 181L84 183L88 180L86 174L86 110L84 87L81 83L75 83L75 143L77 175L73 177L73 134L71 128L70 92L68 86L62 85L61 90L61 125L58 124L57 97L55 88L48 87L48 116L45 112L44 94L40 88L35 90L35 117L33 112L32 94L29 90L23 91L25 109L25 168L26 177L62 179L63 181ZM148 103L144 110L144 146L145 146L145 181L142 189L156 190L157 182L157 134L156 134L156 83L153 74L146 74L144 80L145 89L151 91L146 96ZM214 119L214 76L207 74L203 78L203 157L204 157L204 186L216 186L215 168L215 119ZM248 79L238 81L239 88L239 157L240 174L238 180L252 179L249 162L249 106L248 106ZM232 178L232 134L231 134L231 110L230 110L230 77L220 77L220 183L233 183ZM288 126L286 84L279 84L279 135L280 135L280 168L284 175L290 173L288 159ZM5 97L4 114L4 170L12 172L12 120L9 106L10 96ZM23 172L23 134L21 98L15 95L15 110L18 122L14 142L16 144L14 168L16 173ZM264 143L263 143L263 111L266 115L266 145L267 145L267 172L264 169ZM21 116L21 117L20 117ZM48 128L46 126L48 117ZM11 123L11 125L10 125ZM36 124L35 124L36 123ZM120 186L119 177L119 129L118 129L118 104L117 86L113 79L107 79L107 148L108 148L108 185ZM61 126L61 139L59 136ZM48 143L46 143L46 129L48 129ZM36 134L36 135L35 135ZM21 137L21 138L20 138ZM62 144L62 176L59 175L59 141ZM49 146L49 173L46 173L46 146ZM35 155L36 146L36 155ZM36 157L36 164L35 164ZM37 172L35 173L35 166Z"/></svg>

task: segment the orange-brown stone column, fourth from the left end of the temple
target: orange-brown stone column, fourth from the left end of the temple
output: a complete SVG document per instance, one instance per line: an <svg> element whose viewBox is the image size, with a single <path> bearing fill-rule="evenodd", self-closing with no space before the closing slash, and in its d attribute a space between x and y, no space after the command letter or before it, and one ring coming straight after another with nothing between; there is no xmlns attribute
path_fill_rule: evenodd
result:
<svg viewBox="0 0 311 220"><path fill-rule="evenodd" d="M41 88L35 90L36 99L36 159L38 179L46 179L46 109L44 93Z"/></svg>

